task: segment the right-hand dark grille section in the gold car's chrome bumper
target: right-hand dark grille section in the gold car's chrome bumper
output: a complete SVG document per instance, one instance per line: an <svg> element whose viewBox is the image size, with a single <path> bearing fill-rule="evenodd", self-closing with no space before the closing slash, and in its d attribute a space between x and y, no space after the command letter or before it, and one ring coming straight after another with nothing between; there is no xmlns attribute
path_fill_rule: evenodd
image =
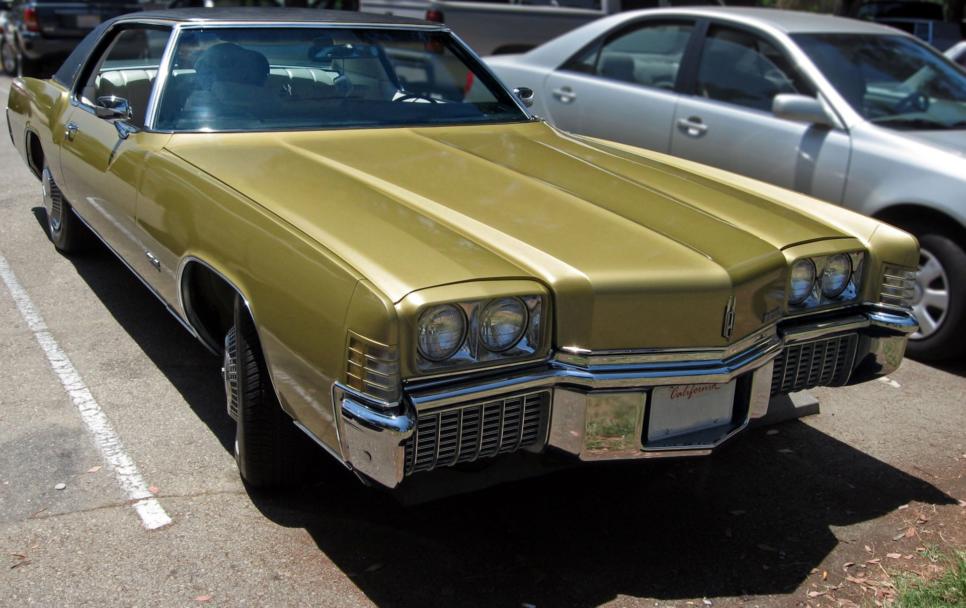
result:
<svg viewBox="0 0 966 608"><path fill-rule="evenodd" d="M852 372L858 341L858 334L843 334L785 346L775 358L772 395L844 384Z"/></svg>

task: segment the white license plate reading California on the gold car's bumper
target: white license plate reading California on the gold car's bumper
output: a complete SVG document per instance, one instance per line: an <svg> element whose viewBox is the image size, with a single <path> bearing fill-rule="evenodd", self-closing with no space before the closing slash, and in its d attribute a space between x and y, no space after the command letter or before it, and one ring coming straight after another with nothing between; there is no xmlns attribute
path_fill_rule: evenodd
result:
<svg viewBox="0 0 966 608"><path fill-rule="evenodd" d="M733 380L727 384L659 386L651 392L647 440L726 425L731 422L733 405Z"/></svg>

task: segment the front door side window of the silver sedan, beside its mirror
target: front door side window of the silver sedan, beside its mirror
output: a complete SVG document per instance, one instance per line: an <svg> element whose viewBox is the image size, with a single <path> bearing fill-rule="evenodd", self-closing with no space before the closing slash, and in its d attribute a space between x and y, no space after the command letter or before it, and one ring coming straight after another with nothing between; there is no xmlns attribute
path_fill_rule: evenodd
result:
<svg viewBox="0 0 966 608"><path fill-rule="evenodd" d="M780 93L814 96L815 90L771 42L715 26L701 51L696 93L770 112Z"/></svg>

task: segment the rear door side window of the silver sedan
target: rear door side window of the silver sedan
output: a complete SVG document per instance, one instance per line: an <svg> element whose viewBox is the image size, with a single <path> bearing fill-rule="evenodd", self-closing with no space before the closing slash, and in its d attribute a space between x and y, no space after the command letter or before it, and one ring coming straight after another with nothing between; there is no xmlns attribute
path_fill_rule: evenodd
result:
<svg viewBox="0 0 966 608"><path fill-rule="evenodd" d="M693 23L649 22L585 50L563 69L672 90Z"/></svg>

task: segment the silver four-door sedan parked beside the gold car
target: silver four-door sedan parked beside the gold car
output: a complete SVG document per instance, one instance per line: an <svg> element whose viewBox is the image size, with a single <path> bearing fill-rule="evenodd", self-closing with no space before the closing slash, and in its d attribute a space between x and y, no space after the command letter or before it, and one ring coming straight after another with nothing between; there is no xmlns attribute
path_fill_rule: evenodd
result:
<svg viewBox="0 0 966 608"><path fill-rule="evenodd" d="M922 244L909 352L966 346L966 75L875 23L770 9L606 17L487 59L575 133L770 181Z"/></svg>

